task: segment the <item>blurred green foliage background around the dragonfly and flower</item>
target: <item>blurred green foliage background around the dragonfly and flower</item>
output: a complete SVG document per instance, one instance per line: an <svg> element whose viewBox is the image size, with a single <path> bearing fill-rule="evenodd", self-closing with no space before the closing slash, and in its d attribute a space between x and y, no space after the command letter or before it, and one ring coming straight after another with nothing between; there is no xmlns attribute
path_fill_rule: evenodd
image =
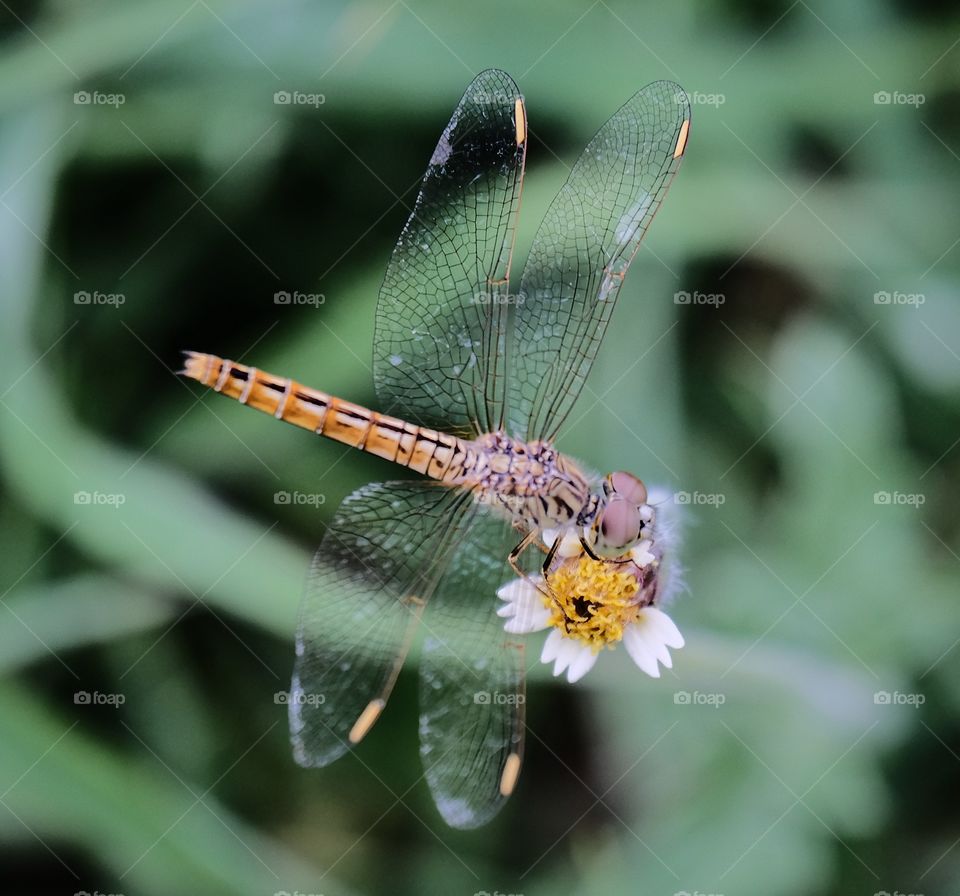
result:
<svg viewBox="0 0 960 896"><path fill-rule="evenodd" d="M960 892L949 4L34 2L0 20L5 892ZM659 681L623 651L576 687L532 669L517 793L463 833L420 779L410 670L323 771L294 765L274 699L325 522L393 471L173 372L194 348L374 404L379 280L489 66L533 134L521 255L630 94L666 77L693 97L561 436L692 496L687 647Z"/></svg>

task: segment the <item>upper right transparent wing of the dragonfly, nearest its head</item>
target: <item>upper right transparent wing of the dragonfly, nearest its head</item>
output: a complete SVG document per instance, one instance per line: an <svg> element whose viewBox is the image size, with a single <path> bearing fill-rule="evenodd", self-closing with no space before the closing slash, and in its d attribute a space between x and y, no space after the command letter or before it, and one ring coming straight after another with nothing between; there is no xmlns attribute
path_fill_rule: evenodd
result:
<svg viewBox="0 0 960 896"><path fill-rule="evenodd" d="M680 167L689 122L679 85L647 85L587 144L547 210L516 306L512 434L552 438L570 412L627 268Z"/></svg>

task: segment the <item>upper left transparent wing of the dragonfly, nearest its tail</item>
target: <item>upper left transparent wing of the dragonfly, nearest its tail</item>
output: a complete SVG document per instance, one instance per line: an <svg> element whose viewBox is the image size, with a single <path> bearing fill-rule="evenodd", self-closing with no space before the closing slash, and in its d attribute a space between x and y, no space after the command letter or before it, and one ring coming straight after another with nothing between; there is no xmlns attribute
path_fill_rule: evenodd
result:
<svg viewBox="0 0 960 896"><path fill-rule="evenodd" d="M481 72L440 137L380 289L383 409L448 432L503 423L507 278L526 117L504 72Z"/></svg>

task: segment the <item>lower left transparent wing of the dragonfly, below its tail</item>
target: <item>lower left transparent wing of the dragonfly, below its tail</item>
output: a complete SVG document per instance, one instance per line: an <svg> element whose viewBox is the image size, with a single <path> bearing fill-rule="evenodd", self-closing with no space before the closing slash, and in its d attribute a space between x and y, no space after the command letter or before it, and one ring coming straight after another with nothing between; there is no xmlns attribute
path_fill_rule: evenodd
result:
<svg viewBox="0 0 960 896"><path fill-rule="evenodd" d="M367 485L340 506L297 630L289 714L301 765L333 762L376 721L471 507L468 493L416 481Z"/></svg>

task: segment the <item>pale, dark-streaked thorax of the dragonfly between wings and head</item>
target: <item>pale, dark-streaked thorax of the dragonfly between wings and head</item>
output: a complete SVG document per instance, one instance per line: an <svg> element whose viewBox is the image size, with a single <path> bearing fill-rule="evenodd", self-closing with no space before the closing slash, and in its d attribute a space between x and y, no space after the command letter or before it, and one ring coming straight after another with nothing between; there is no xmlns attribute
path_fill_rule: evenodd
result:
<svg viewBox="0 0 960 896"><path fill-rule="evenodd" d="M586 477L548 442L522 442L495 432L470 448L463 475L477 500L527 529L577 523L593 502Z"/></svg>

